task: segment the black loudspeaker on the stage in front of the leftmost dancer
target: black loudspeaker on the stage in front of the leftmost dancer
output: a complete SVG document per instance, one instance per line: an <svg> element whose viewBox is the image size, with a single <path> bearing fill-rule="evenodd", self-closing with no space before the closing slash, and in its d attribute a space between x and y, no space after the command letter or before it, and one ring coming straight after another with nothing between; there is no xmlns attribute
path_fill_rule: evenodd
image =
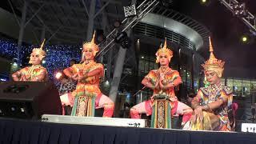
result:
<svg viewBox="0 0 256 144"><path fill-rule="evenodd" d="M42 114L62 114L58 90L53 83L0 83L0 117L38 119Z"/></svg>

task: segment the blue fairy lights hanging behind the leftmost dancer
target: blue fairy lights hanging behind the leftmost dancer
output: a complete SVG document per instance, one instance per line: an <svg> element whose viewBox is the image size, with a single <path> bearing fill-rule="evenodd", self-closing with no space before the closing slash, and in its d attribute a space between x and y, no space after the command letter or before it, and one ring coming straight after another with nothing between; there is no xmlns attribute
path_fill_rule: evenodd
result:
<svg viewBox="0 0 256 144"><path fill-rule="evenodd" d="M12 60L12 65L17 65L17 43L2 39L0 40L0 56ZM33 50L34 45L22 45L21 58L22 66L28 65L30 53ZM58 70L63 70L69 66L71 59L79 62L81 58L81 46L68 46L68 45L54 45L44 46L46 51L46 58L43 60L42 65L46 67L50 78L54 77L54 74Z"/></svg>

